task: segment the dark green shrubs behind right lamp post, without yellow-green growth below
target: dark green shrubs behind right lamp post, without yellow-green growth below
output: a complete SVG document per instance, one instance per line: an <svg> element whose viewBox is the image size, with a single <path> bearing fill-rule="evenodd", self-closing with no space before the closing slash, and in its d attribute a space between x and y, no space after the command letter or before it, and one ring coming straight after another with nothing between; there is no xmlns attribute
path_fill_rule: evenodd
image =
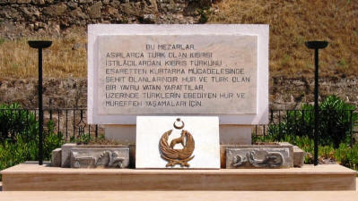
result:
<svg viewBox="0 0 358 201"><path fill-rule="evenodd" d="M346 104L337 96L328 96L319 105L319 145L337 148L340 143L349 143L351 123L357 121L354 105ZM302 105L301 111L287 111L284 120L272 124L268 132L275 141L281 141L287 136L313 138L314 107Z"/></svg>

